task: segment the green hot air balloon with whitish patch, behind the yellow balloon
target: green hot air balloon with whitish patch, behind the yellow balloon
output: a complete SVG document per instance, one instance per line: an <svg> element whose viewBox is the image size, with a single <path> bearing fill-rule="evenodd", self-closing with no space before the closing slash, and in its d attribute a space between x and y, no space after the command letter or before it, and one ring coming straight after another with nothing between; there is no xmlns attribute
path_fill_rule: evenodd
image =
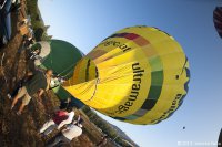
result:
<svg viewBox="0 0 222 147"><path fill-rule="evenodd" d="M41 45L39 55L42 60L37 60L34 64L41 69L52 69L54 74L65 78L71 77L73 67L82 59L83 53L74 45L62 40L41 41L38 43ZM60 99L71 97L60 85L52 90Z"/></svg>

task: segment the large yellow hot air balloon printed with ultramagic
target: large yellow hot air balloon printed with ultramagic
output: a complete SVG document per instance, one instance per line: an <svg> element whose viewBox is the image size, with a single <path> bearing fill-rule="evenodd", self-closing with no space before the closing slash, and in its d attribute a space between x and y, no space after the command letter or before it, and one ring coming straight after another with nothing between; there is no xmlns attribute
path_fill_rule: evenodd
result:
<svg viewBox="0 0 222 147"><path fill-rule="evenodd" d="M157 124L188 93L189 62L180 44L150 27L103 40L74 67L63 87L98 112L131 124Z"/></svg>

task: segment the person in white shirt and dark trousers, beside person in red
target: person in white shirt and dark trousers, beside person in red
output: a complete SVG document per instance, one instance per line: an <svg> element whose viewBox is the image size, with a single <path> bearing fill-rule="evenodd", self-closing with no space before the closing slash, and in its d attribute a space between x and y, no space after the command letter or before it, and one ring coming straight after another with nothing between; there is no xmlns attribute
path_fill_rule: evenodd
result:
<svg viewBox="0 0 222 147"><path fill-rule="evenodd" d="M71 124L67 125L57 136L54 136L48 144L47 147L54 147L58 145L70 144L71 140L82 134L82 118L73 120Z"/></svg>

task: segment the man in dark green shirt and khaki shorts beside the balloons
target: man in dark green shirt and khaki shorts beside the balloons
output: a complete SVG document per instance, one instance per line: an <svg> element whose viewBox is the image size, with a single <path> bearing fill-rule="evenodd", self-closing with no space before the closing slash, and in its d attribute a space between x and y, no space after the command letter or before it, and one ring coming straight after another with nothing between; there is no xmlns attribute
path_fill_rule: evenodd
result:
<svg viewBox="0 0 222 147"><path fill-rule="evenodd" d="M38 93L38 99L41 102L41 95L43 94L44 91L49 88L52 74L53 74L52 70L48 70L46 73L43 73L42 71L36 71L31 80L29 80L21 87L19 93L13 98L11 104L11 109L14 107L18 99L23 97L19 111L17 112L17 114L20 115L24 106L29 104L31 96L36 93Z"/></svg>

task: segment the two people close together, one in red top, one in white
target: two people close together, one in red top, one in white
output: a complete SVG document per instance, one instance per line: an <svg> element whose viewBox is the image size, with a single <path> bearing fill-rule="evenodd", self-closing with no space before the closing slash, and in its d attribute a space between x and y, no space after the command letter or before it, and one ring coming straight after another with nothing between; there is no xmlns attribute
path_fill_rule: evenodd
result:
<svg viewBox="0 0 222 147"><path fill-rule="evenodd" d="M48 120L39 130L41 136L48 136L56 128L61 132L47 143L47 147L56 145L70 144L71 140L82 134L83 119L79 115L74 117L74 109L67 108L65 111L56 112L54 116Z"/></svg>

